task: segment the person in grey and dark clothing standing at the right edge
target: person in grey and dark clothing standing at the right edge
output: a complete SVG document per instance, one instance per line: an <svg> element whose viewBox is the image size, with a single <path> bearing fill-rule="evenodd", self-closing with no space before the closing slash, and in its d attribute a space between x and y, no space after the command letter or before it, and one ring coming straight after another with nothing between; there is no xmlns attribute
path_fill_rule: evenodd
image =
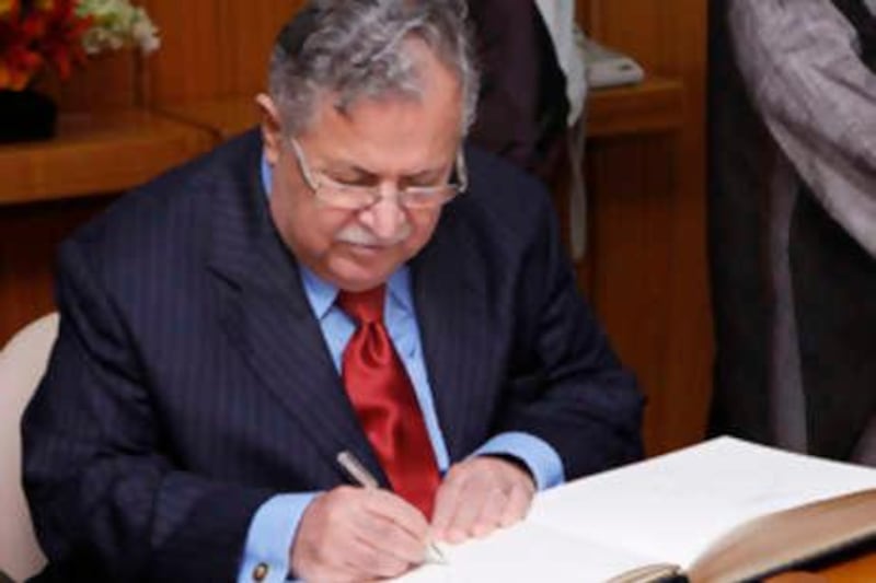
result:
<svg viewBox="0 0 876 583"><path fill-rule="evenodd" d="M874 2L710 10L710 432L876 465Z"/></svg>

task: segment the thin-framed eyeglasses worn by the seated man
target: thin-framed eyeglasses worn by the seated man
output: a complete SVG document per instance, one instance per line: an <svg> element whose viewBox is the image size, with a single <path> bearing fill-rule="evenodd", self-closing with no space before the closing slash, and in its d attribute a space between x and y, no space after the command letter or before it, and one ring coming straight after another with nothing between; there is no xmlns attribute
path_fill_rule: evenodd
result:
<svg viewBox="0 0 876 583"><path fill-rule="evenodd" d="M310 170L304 152L298 140L291 138L298 167L304 183L313 190L313 195L321 201L346 210L365 210L377 205L383 196L376 186L362 186L335 180L324 174L316 174ZM469 186L469 176L465 168L465 159L462 151L457 152L456 183L436 186L405 186L395 191L399 205L406 209L434 209L450 202L457 195L463 193Z"/></svg>

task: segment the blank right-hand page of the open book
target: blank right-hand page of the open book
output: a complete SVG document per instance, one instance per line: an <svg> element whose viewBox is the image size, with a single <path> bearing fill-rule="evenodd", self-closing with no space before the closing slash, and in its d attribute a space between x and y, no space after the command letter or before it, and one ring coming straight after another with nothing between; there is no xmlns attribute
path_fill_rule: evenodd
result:
<svg viewBox="0 0 876 583"><path fill-rule="evenodd" d="M876 470L718 438L540 494L528 521L688 567L762 514L876 487Z"/></svg>

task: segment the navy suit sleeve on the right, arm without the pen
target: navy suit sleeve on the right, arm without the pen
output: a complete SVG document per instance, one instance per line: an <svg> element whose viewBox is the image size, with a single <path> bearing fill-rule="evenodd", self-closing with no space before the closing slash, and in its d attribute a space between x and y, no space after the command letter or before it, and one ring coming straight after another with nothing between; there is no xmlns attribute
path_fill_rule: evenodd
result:
<svg viewBox="0 0 876 583"><path fill-rule="evenodd" d="M566 479L643 455L643 397L578 292L546 201L523 260L517 311L520 342L505 388L499 431L542 439Z"/></svg>

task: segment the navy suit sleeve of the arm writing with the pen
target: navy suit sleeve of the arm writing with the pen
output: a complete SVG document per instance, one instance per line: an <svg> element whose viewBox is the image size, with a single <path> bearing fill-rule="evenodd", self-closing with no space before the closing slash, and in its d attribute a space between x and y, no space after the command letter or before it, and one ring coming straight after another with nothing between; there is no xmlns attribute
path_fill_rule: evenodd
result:
<svg viewBox="0 0 876 583"><path fill-rule="evenodd" d="M136 342L76 243L61 252L57 294L59 337L22 421L25 490L51 567L107 581L232 580L274 492L175 467Z"/></svg>

